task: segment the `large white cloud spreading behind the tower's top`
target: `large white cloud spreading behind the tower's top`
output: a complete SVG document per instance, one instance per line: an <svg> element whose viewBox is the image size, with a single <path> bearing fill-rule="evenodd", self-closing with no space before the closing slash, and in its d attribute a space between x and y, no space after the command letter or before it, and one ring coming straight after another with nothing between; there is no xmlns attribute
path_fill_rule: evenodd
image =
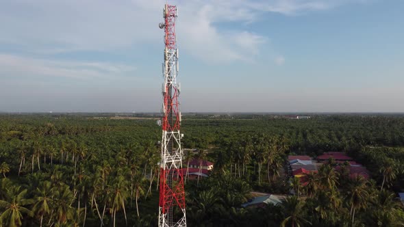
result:
<svg viewBox="0 0 404 227"><path fill-rule="evenodd" d="M268 12L286 15L327 10L364 0L190 0L179 5L182 50L205 62L233 62L257 55L268 38L220 23L252 23ZM164 0L15 0L1 3L0 44L20 44L29 52L52 54L110 51L162 44Z"/></svg>

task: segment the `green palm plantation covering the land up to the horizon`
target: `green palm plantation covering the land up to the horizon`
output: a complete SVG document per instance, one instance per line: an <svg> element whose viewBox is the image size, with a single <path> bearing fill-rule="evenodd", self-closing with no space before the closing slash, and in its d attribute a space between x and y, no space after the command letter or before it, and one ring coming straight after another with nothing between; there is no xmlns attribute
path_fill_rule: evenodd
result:
<svg viewBox="0 0 404 227"><path fill-rule="evenodd" d="M156 226L160 127L155 116L0 116L0 226ZM190 115L186 152L214 162L186 181L190 226L401 226L403 116ZM290 153L345 151L372 179L336 172L332 161L307 184L291 181ZM343 168L342 168L343 169ZM251 191L288 194L280 205L244 209ZM296 190L295 190L296 191Z"/></svg>

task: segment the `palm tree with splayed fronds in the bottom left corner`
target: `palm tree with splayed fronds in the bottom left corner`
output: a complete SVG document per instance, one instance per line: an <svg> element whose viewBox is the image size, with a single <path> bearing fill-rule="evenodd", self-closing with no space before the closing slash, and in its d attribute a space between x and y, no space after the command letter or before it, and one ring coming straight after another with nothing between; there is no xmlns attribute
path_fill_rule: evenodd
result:
<svg viewBox="0 0 404 227"><path fill-rule="evenodd" d="M11 187L8 189L8 200L0 200L0 207L3 213L0 215L0 223L5 226L18 227L22 225L23 213L32 216L32 211L25 208L25 205L32 204L32 200L25 199L27 189Z"/></svg>

